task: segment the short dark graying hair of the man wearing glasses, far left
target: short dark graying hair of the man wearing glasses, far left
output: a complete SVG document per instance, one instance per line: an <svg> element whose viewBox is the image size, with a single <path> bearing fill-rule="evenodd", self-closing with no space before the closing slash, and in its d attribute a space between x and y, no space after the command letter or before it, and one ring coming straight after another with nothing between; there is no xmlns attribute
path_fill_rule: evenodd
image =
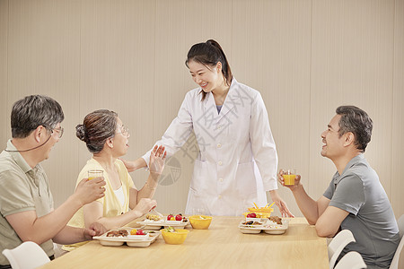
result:
<svg viewBox="0 0 404 269"><path fill-rule="evenodd" d="M13 138L25 138L38 126L52 129L65 119L62 107L45 95L30 95L13 104L11 127Z"/></svg>

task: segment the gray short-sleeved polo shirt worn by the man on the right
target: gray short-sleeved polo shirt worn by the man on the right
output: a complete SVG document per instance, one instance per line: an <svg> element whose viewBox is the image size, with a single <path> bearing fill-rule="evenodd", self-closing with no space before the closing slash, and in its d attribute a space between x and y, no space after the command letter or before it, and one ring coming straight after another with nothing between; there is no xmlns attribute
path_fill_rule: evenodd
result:
<svg viewBox="0 0 404 269"><path fill-rule="evenodd" d="M343 255L357 251L368 268L388 268L399 246L399 228L379 177L363 154L349 161L342 175L335 173L324 196L330 206L349 213L341 229L351 230L356 243Z"/></svg>

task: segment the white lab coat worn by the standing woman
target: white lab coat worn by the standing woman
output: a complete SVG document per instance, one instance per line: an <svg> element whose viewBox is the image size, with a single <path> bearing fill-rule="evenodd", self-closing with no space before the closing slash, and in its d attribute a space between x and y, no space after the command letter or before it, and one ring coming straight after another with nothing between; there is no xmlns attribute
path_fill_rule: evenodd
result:
<svg viewBox="0 0 404 269"><path fill-rule="evenodd" d="M186 214L241 215L255 202L267 204L266 191L277 189L277 150L268 112L259 91L233 78L217 113L211 92L189 91L162 140L169 156L194 130L199 146L189 186ZM150 160L150 151L143 156Z"/></svg>

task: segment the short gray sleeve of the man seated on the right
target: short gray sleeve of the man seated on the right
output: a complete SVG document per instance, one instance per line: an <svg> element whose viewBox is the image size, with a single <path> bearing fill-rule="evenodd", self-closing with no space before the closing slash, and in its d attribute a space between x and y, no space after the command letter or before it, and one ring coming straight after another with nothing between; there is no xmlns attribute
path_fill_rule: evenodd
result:
<svg viewBox="0 0 404 269"><path fill-rule="evenodd" d="M347 175L347 177L339 181L329 205L356 215L362 205L364 205L364 202L364 184L362 179L356 175Z"/></svg>

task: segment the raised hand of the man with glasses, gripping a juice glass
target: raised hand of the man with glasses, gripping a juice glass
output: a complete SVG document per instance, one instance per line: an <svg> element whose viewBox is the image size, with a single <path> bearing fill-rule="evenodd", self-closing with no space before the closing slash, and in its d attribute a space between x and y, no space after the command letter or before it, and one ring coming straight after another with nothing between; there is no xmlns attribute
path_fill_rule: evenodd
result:
<svg viewBox="0 0 404 269"><path fill-rule="evenodd" d="M104 178L94 178L92 180L83 178L75 188L75 198L81 201L83 205L92 203L105 195L105 184Z"/></svg>

